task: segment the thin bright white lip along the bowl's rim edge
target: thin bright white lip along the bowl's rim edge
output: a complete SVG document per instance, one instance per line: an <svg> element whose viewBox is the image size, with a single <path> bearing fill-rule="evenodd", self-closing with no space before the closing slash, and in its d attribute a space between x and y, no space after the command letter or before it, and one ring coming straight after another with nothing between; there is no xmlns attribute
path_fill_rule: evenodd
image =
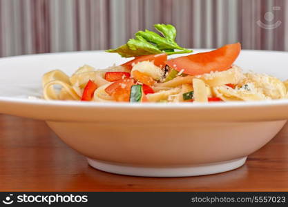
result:
<svg viewBox="0 0 288 207"><path fill-rule="evenodd" d="M193 50L205 51L211 48L195 48ZM276 50L242 50L249 52L273 52L273 53L287 53L286 51ZM49 52L40 54L17 55L11 57L1 57L1 60L19 59L25 57L39 57L39 56L57 56L57 55L75 55L77 53L95 53L105 52L105 50L84 50L84 51L69 51L69 52ZM0 97L0 102L6 103L23 103L37 106L55 106L55 107L79 107L79 108L193 108L193 109L213 109L213 108L249 108L259 106L288 106L288 99L267 100L267 101L231 101L231 102L213 102L213 103L125 103L125 102L84 102L84 101L47 101L44 99L23 99L17 97Z"/></svg>

